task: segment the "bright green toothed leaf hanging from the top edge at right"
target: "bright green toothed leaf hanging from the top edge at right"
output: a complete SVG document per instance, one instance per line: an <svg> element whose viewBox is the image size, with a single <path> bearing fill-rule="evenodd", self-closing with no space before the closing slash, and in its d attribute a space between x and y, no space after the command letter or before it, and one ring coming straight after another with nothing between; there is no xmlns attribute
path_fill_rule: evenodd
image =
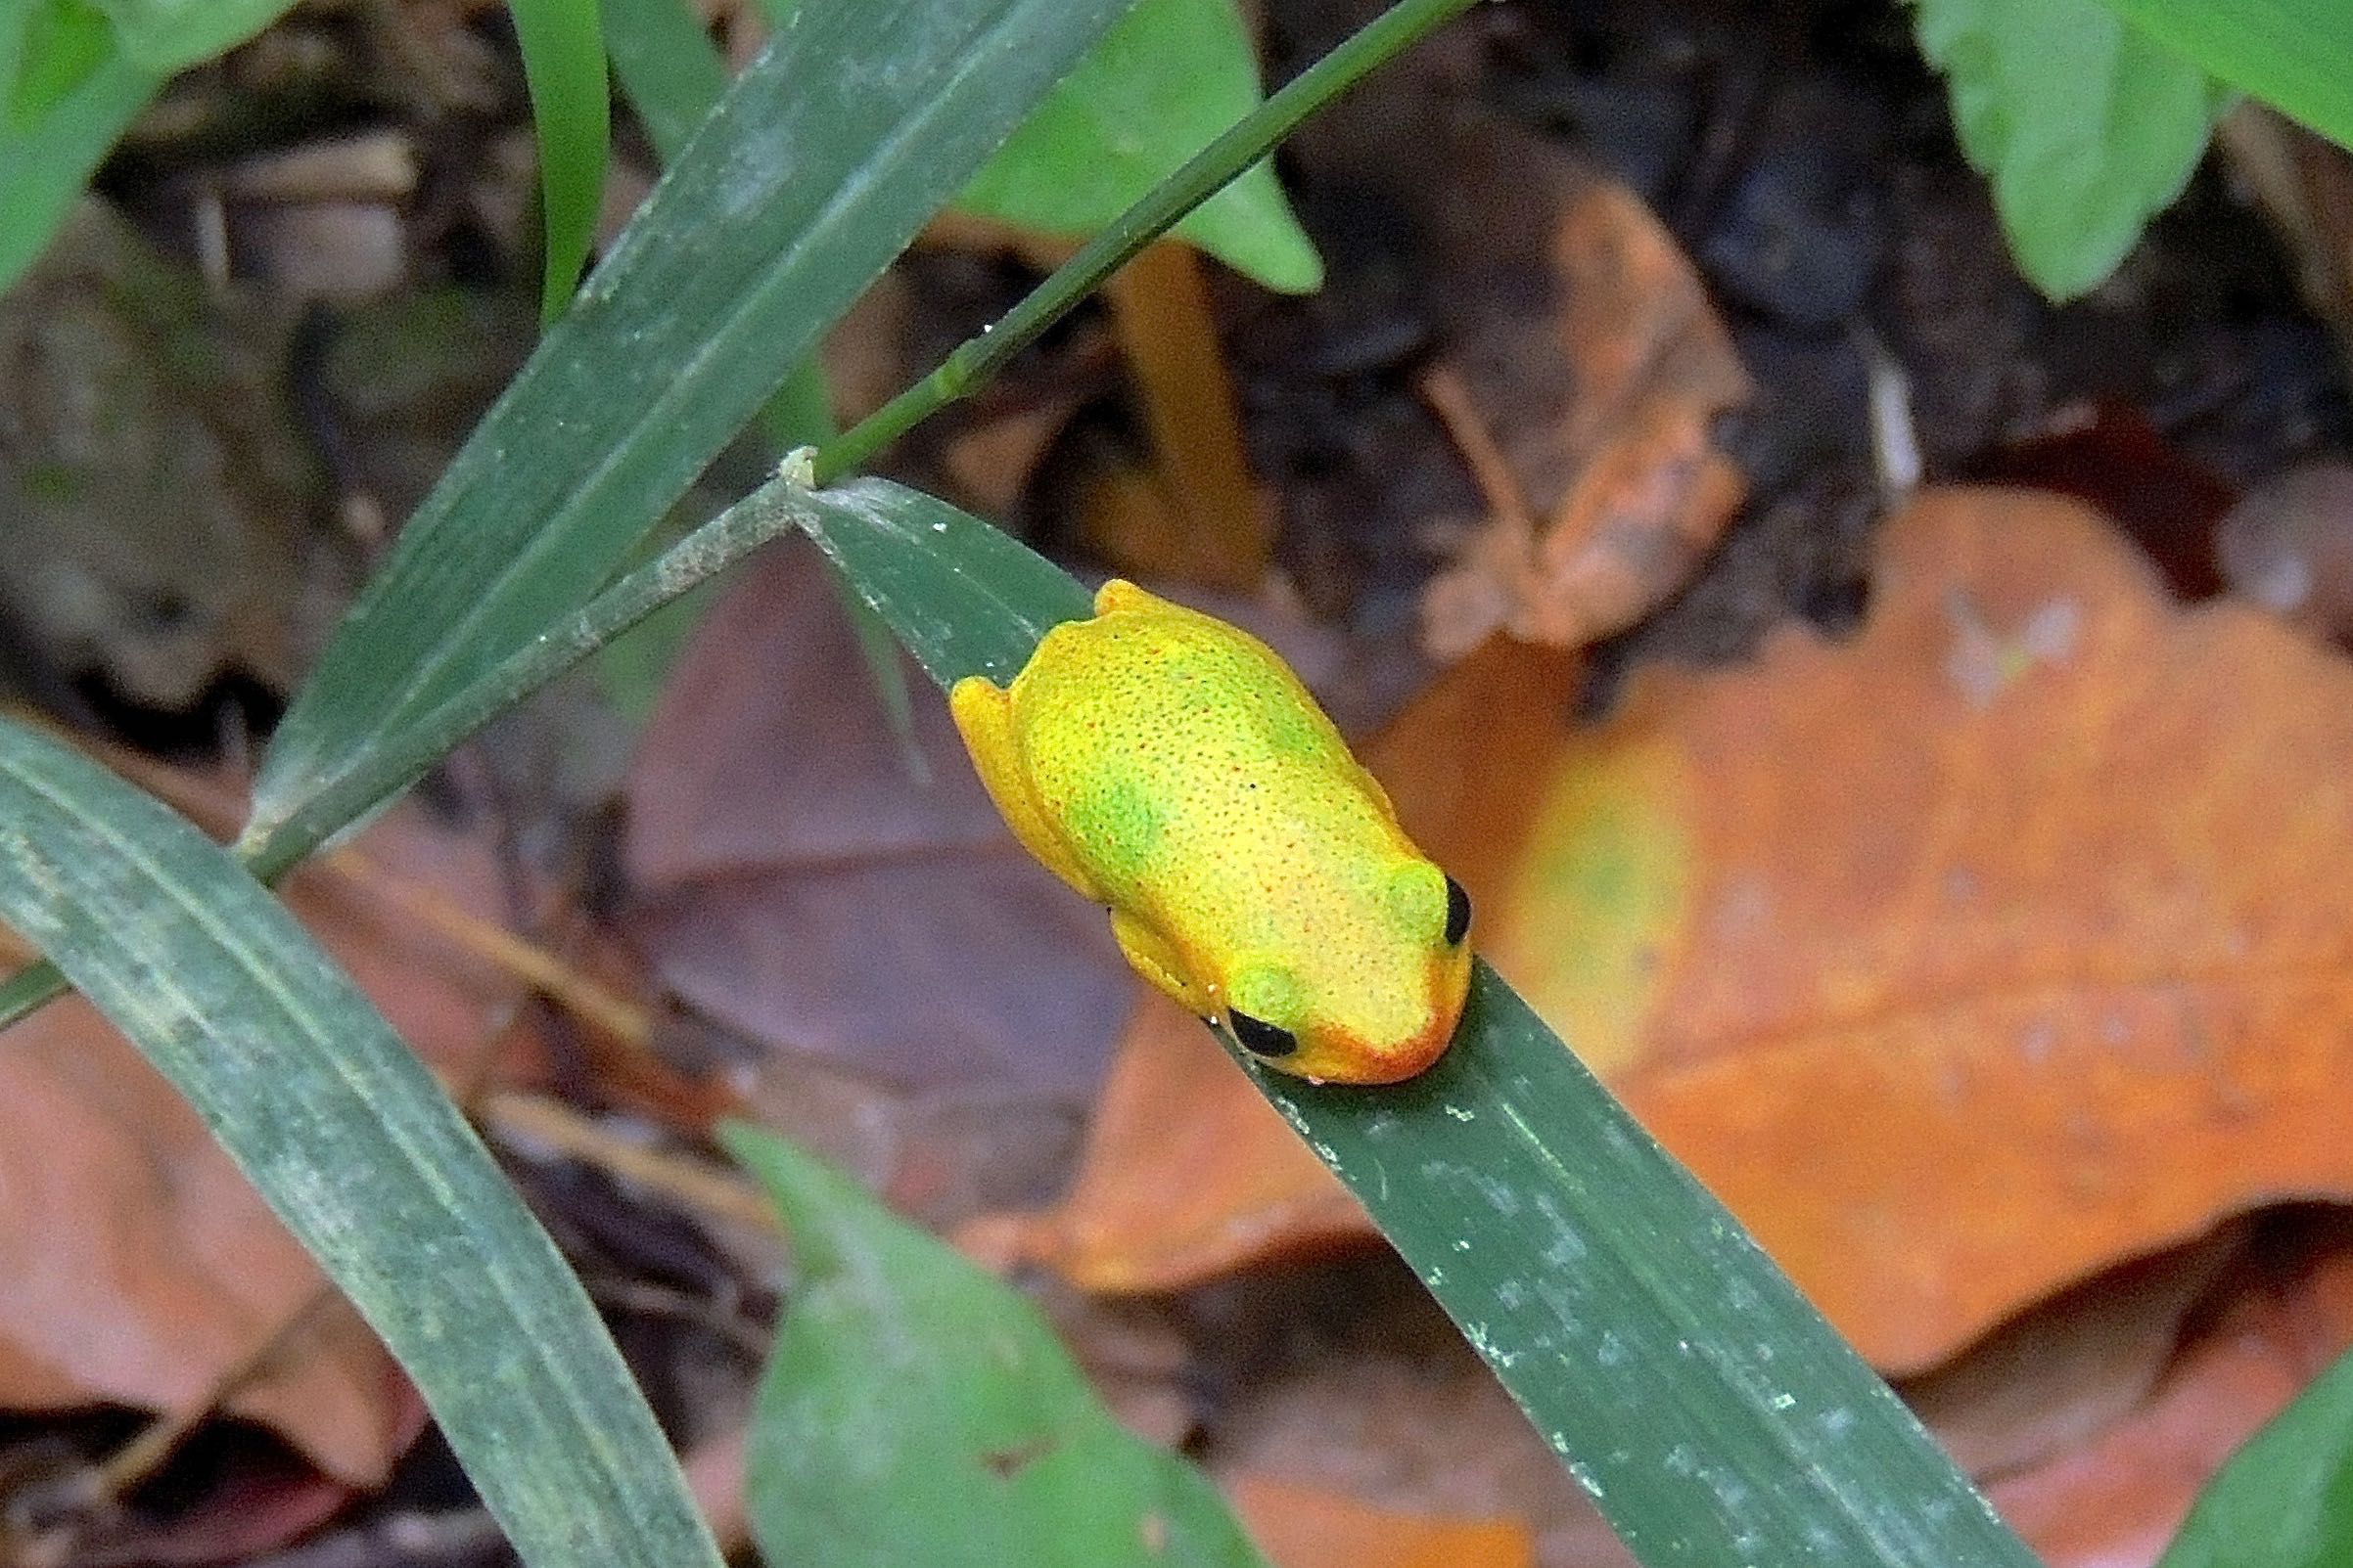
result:
<svg viewBox="0 0 2353 1568"><path fill-rule="evenodd" d="M2097 287L2205 153L2228 94L2099 0L1918 0L2009 249L2064 301Z"/></svg>

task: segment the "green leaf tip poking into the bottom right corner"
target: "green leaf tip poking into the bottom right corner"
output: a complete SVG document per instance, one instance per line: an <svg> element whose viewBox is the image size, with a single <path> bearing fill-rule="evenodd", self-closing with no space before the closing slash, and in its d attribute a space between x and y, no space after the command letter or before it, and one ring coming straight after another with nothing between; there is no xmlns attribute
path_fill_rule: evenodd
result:
<svg viewBox="0 0 2353 1568"><path fill-rule="evenodd" d="M2207 1481L2158 1568L2353 1563L2353 1354Z"/></svg>

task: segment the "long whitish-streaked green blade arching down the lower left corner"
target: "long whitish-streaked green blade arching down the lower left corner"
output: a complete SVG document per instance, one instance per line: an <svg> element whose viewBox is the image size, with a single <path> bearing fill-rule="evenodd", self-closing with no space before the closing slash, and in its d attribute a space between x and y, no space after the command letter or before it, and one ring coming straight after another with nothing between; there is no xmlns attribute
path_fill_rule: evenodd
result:
<svg viewBox="0 0 2353 1568"><path fill-rule="evenodd" d="M718 1568L579 1281L376 1009L226 851L0 722L0 919L172 1079L414 1378L527 1563Z"/></svg>

